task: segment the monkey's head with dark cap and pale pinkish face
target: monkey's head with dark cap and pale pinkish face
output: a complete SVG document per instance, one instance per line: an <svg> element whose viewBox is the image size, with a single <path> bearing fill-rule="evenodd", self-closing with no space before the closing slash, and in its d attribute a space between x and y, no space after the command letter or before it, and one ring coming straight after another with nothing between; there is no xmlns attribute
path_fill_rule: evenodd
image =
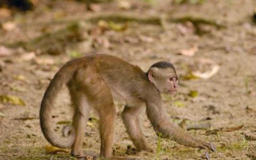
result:
<svg viewBox="0 0 256 160"><path fill-rule="evenodd" d="M161 61L152 65L147 71L147 77L161 93L174 95L179 88L179 75L172 63Z"/></svg>

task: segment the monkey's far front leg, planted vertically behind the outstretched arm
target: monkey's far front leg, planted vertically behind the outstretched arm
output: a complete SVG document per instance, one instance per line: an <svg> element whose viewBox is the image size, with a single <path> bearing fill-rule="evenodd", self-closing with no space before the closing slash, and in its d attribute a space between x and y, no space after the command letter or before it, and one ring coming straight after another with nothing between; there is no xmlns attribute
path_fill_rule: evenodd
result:
<svg viewBox="0 0 256 160"><path fill-rule="evenodd" d="M122 112L122 118L124 125L127 129L127 133L129 134L134 146L138 150L146 150L153 152L153 149L147 146L145 136L142 133L139 115L142 107L129 107L125 106L124 111Z"/></svg>

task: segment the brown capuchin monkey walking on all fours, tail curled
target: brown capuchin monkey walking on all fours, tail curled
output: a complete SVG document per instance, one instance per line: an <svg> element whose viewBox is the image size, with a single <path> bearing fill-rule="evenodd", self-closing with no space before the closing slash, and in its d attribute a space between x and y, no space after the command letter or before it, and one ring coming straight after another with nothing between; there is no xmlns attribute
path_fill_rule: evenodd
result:
<svg viewBox="0 0 256 160"><path fill-rule="evenodd" d="M160 93L174 95L179 76L169 62L157 62L147 73L138 66L112 55L95 54L67 62L50 82L41 103L40 124L44 137L53 146L70 148L71 155L86 157L82 143L90 108L99 114L101 140L100 157L112 157L116 110L113 99L126 102L122 112L123 123L134 146L138 150L153 152L142 133L139 115L146 105L147 117L157 134L181 145L211 148L210 143L193 138L171 122ZM51 110L58 92L63 86L69 89L74 116L72 125L63 127L60 138L52 129ZM130 158L131 159L131 158Z"/></svg>

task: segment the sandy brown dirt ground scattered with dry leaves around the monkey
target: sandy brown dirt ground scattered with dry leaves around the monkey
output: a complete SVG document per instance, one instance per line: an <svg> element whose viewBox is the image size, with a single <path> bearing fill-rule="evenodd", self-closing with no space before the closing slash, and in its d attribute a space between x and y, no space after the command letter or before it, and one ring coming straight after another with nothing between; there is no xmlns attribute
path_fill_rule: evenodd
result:
<svg viewBox="0 0 256 160"><path fill-rule="evenodd" d="M188 132L214 143L215 153L206 150L211 159L256 159L256 141L245 137L256 134L256 25L252 21L256 2L124 2L93 4L90 11L82 2L34 1L33 11L0 17L0 100L12 95L26 103L23 106L18 100L13 105L10 98L0 103L0 159L75 159L68 153L46 153L49 143L39 127L39 104L50 79L66 61L97 53L116 55L145 71L154 62L172 62L180 73L180 91L174 97L163 95L163 100L173 122L186 119L185 126L210 124ZM108 20L106 15L121 18ZM125 23L125 15L134 20ZM193 17L210 24L166 20L169 17ZM191 70L203 72L212 66L219 70L210 78L191 76ZM116 103L119 115L123 105ZM67 90L58 95L53 108L52 127L61 136L72 116ZM98 155L97 117L91 119L83 148ZM114 155L205 159L203 149L158 138L145 112L141 124L155 153L135 150L117 116Z"/></svg>

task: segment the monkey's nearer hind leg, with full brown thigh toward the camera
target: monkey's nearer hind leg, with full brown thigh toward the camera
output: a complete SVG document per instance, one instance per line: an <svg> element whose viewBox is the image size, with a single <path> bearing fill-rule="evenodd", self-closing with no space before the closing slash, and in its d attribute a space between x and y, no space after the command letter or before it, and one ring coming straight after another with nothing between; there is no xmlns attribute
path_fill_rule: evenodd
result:
<svg viewBox="0 0 256 160"><path fill-rule="evenodd" d="M91 74L85 79L85 94L90 106L99 114L100 157L111 158L114 138L116 110L108 85L98 74Z"/></svg>

